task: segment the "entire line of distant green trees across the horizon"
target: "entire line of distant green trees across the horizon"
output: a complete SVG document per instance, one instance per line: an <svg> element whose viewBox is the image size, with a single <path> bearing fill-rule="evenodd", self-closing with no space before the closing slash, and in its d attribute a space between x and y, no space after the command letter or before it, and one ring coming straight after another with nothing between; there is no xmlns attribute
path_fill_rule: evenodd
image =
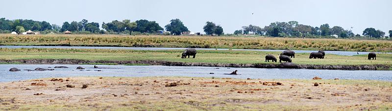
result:
<svg viewBox="0 0 392 111"><path fill-rule="evenodd" d="M102 29L100 30L99 27ZM188 32L188 28L180 19L172 19L170 23L165 25L166 31L171 32L173 35L181 35L182 32ZM72 21L71 23L65 21L61 26L50 24L47 21L35 21L28 19L15 19L8 20L5 18L0 19L0 33L10 33L15 31L23 33L27 30L42 31L42 34L49 32L62 33L64 31L71 31L76 33L94 33L94 34L132 34L134 33L155 33L159 30L164 30L156 21L149 21L140 19L136 21L113 20L111 22L102 22L101 25L97 22L88 22L87 19L81 21ZM223 28L216 25L214 22L207 21L203 27L207 35L221 36ZM351 30L344 29L340 26L330 27L329 24L322 24L319 27L310 25L299 24L297 21L289 22L272 22L269 26L259 27L256 25L243 26L242 29L234 31L234 35L262 35L271 37L317 37L317 36L331 36L337 35L339 37L358 37L359 34L354 34ZM392 37L392 30L389 31L389 37ZM363 31L364 36L367 37L383 37L385 32L376 30L374 28L366 28Z"/></svg>

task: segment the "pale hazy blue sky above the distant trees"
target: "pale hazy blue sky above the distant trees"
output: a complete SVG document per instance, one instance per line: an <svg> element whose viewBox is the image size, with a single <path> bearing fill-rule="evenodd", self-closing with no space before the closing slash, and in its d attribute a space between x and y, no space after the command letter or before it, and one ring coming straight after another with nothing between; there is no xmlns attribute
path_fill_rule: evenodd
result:
<svg viewBox="0 0 392 111"><path fill-rule="evenodd" d="M361 34L368 27L392 30L392 0L1 0L0 18L33 19L62 25L64 21L111 22L147 19L161 27L180 19L192 32L206 21L231 34L249 24L298 21L319 27L328 23Z"/></svg>

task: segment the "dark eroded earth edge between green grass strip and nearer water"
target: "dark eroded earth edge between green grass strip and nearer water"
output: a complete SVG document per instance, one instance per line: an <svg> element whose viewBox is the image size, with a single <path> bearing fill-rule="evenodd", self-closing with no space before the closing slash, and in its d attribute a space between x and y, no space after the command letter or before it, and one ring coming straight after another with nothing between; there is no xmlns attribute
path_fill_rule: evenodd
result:
<svg viewBox="0 0 392 111"><path fill-rule="evenodd" d="M162 66L204 66L204 67L235 67L235 68L282 68L279 64L242 64L242 63L196 63L196 62L172 62L163 60L80 60L80 59L16 59L0 60L0 63L21 64L148 64ZM285 68L283 68L285 69ZM296 69L318 69L318 70L391 70L391 65L311 65L298 64Z"/></svg>

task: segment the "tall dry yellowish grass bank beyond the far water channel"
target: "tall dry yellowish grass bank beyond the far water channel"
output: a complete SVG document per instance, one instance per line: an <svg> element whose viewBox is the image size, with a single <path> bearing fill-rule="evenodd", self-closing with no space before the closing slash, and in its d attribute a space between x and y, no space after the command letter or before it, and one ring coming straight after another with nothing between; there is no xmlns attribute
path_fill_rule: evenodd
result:
<svg viewBox="0 0 392 111"><path fill-rule="evenodd" d="M282 37L0 35L1 45L196 47L392 52L392 41Z"/></svg>

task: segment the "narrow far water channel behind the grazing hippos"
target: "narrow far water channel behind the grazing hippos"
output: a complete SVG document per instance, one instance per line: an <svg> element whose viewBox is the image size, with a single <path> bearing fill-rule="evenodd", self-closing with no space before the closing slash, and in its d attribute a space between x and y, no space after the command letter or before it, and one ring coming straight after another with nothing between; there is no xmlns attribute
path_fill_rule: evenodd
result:
<svg viewBox="0 0 392 111"><path fill-rule="evenodd" d="M81 46L0 46L0 48L58 48L58 49L111 49L111 50L185 50L187 48L157 48L157 47L81 47ZM196 50L229 50L214 48L196 48ZM267 52L283 52L284 50L268 50L268 49L232 49L237 51L267 51ZM293 50L295 53L312 53L317 51ZM324 51L325 54L353 56L368 55L370 52L351 52L351 51ZM358 53L358 54L357 54ZM375 52L377 54L381 52ZM392 53L387 53L392 54Z"/></svg>

